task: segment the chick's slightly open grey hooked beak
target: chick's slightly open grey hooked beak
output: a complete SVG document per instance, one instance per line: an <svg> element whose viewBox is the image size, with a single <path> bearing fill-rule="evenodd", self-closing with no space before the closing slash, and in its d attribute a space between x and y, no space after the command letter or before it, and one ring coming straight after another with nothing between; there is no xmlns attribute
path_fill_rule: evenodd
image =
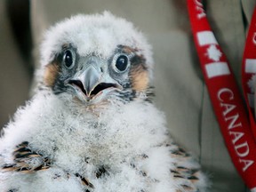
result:
<svg viewBox="0 0 256 192"><path fill-rule="evenodd" d="M90 65L80 72L75 78L68 80L68 84L76 91L83 93L86 100L92 100L103 92L112 89L122 89L122 86L109 76L101 72L100 68Z"/></svg>

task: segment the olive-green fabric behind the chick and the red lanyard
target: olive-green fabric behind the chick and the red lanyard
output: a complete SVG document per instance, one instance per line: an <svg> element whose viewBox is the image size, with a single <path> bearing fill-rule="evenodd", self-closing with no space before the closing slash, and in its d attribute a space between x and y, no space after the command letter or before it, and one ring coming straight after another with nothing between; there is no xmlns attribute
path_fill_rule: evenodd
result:
<svg viewBox="0 0 256 192"><path fill-rule="evenodd" d="M214 34L228 56L237 82L240 82L244 39L255 0L204 0L204 5ZM185 0L33 0L31 27L35 63L38 63L36 48L42 40L44 29L76 13L104 10L132 21L148 36L155 59L153 84L156 86L156 105L164 110L174 140L193 152L203 165L204 172L209 174L212 180L211 191L245 192L244 183L231 163L212 113L211 101L193 44ZM26 68L20 67L19 52L15 49L12 36L8 34L1 3L0 22L0 52L4 56L0 63L0 113L6 114L13 97L17 98L15 103L22 103L26 98L25 91L28 91L29 83ZM4 89L10 89L10 78L14 78L11 81L11 86L15 89L13 92L16 92L14 95L4 92ZM13 105L15 104L12 103ZM1 118L0 120L2 121Z"/></svg>

